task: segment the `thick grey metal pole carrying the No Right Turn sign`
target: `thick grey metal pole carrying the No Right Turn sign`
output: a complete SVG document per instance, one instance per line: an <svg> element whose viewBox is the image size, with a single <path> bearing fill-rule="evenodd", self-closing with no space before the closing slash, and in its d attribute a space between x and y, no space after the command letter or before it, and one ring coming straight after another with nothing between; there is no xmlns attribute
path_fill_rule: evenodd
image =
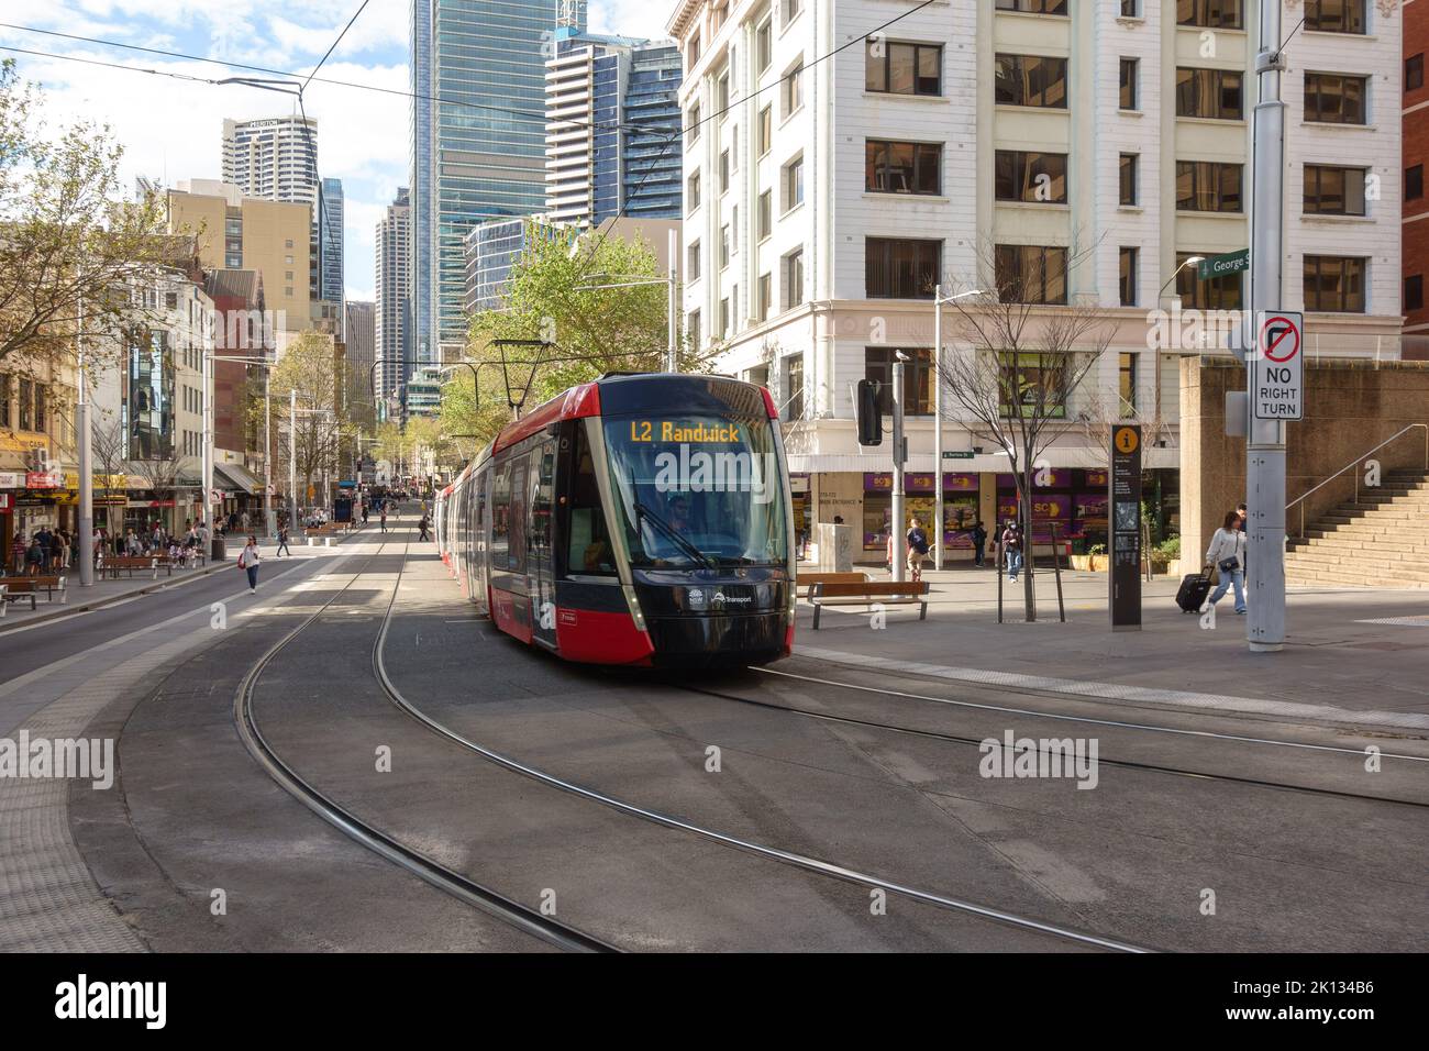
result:
<svg viewBox="0 0 1429 1051"><path fill-rule="evenodd" d="M1253 116L1250 204L1250 306L1280 309L1280 252L1285 214L1285 103L1280 102L1280 4L1260 4L1255 69L1259 97ZM1253 327L1253 326L1252 326ZM1256 345L1246 352L1246 389L1255 376ZM1252 398L1246 399L1253 403ZM1285 643L1285 423L1252 419L1246 438L1246 639L1252 651Z"/></svg>

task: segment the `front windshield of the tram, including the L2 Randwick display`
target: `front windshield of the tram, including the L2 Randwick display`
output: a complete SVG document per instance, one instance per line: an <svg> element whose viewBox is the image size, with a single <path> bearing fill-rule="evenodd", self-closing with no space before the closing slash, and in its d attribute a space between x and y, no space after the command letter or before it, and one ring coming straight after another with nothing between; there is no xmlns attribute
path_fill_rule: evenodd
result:
<svg viewBox="0 0 1429 1051"><path fill-rule="evenodd" d="M612 488L634 566L782 565L785 482L767 419L606 418Z"/></svg>

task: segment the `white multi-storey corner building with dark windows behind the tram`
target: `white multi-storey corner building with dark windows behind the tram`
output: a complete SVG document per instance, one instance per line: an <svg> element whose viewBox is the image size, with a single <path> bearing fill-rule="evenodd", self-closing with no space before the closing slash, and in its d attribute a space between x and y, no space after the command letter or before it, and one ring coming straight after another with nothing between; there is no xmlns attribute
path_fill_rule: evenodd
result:
<svg viewBox="0 0 1429 1051"><path fill-rule="evenodd" d="M1283 306L1306 312L1312 355L1393 356L1399 14L1303 0L1286 30L1302 14L1283 77ZM930 520L937 286L1103 312L1115 335L1066 406L1039 513L1063 536L1105 522L1089 423L1110 415L1147 425L1143 462L1175 518L1177 357L1206 347L1159 310L1249 306L1246 275L1186 260L1249 245L1258 17L1256 0L679 3L686 326L783 406L803 525L862 520L882 551L890 445L857 445L852 392L889 379L897 350L907 506ZM943 415L945 449L970 456L943 465L956 546L1007 516L1012 485L955 399Z"/></svg>

